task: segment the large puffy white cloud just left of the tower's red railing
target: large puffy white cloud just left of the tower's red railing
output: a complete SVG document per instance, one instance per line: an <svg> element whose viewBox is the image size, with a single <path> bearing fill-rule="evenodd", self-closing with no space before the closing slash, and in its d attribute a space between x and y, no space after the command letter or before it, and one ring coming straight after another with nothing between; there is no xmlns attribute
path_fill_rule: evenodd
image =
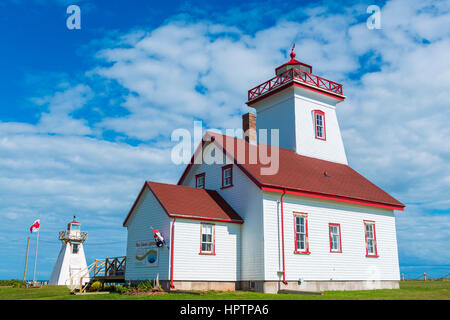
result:
<svg viewBox="0 0 450 320"><path fill-rule="evenodd" d="M296 27L295 23L280 26L291 32ZM131 115L124 122L105 119L101 126L143 140L168 136L176 127L191 127L193 119L213 127L238 126L236 115L245 109L245 88L270 76L276 57L284 59L279 47L268 43L276 39L287 47L290 41L273 30L253 38L222 25L179 21L130 38L130 48L100 52L99 57L113 65L95 72L132 93L123 104ZM154 121L155 127L149 128L142 123L146 119L159 123Z"/></svg>

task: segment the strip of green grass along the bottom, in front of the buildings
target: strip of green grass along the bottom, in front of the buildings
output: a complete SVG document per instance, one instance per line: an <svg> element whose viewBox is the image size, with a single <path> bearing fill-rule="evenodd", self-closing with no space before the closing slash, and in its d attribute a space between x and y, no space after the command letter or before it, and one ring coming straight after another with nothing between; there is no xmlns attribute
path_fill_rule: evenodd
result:
<svg viewBox="0 0 450 320"><path fill-rule="evenodd" d="M208 292L204 295L166 294L127 296L71 295L66 287L0 287L0 300L450 300L450 281L402 281L397 290L327 291L322 296L299 294L264 294L255 292Z"/></svg>

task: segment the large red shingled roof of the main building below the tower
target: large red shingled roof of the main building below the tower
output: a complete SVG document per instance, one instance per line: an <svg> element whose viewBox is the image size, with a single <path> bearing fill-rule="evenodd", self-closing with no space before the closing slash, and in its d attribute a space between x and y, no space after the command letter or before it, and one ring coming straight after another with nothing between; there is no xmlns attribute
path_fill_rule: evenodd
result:
<svg viewBox="0 0 450 320"><path fill-rule="evenodd" d="M236 151L238 142L244 144L246 161L241 164L235 161L235 164L263 190L396 210L403 210L405 207L348 165L302 156L290 149L277 148L280 159L278 173L262 175L261 168L268 165L260 162L249 164L248 161L248 154L251 153L249 151L257 151L262 145L252 145L242 139L211 132L207 135L214 136L214 143L219 147L223 146L224 152L235 159L233 155L238 154ZM234 148L229 146L230 142ZM190 166L188 165L178 184L183 182Z"/></svg>

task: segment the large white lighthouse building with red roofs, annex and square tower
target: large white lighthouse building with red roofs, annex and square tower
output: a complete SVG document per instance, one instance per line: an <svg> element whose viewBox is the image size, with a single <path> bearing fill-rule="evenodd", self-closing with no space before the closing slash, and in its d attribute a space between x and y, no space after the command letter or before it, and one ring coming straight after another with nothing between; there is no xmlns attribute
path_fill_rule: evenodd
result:
<svg viewBox="0 0 450 320"><path fill-rule="evenodd" d="M207 132L177 185L145 182L123 223L125 279L269 293L398 288L394 211L404 205L348 165L336 115L345 98L292 52L249 90L256 115L244 115L243 139ZM268 142L274 172L260 158L261 129L279 130L279 146ZM211 155L221 161L201 161Z"/></svg>

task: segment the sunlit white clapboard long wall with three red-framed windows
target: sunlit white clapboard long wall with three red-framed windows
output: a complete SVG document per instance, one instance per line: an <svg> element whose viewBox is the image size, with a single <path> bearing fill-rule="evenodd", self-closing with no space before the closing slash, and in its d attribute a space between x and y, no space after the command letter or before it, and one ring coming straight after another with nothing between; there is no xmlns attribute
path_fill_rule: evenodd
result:
<svg viewBox="0 0 450 320"><path fill-rule="evenodd" d="M281 194L264 192L265 279L282 270ZM286 195L284 197L286 280L399 280L392 210ZM293 212L308 214L311 254L294 254ZM375 221L378 258L366 257L364 220ZM329 223L341 225L342 253L330 253Z"/></svg>

